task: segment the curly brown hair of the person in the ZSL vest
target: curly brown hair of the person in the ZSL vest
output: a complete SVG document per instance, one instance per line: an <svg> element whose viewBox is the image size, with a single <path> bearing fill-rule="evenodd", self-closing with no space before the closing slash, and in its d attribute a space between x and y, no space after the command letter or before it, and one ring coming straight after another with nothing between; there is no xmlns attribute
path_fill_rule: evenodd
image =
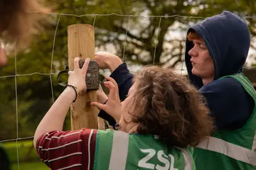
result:
<svg viewBox="0 0 256 170"><path fill-rule="evenodd" d="M158 135L176 147L195 147L213 132L203 96L172 69L144 67L134 75L137 92L132 122L139 134Z"/></svg>

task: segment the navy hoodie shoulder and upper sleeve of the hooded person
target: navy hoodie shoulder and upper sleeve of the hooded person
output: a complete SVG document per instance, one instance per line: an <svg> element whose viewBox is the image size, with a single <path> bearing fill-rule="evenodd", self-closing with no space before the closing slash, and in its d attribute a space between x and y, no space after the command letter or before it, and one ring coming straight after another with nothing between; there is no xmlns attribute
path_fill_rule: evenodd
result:
<svg viewBox="0 0 256 170"><path fill-rule="evenodd" d="M212 81L199 92L206 98L217 128L236 130L245 125L252 114L253 98L233 77Z"/></svg>

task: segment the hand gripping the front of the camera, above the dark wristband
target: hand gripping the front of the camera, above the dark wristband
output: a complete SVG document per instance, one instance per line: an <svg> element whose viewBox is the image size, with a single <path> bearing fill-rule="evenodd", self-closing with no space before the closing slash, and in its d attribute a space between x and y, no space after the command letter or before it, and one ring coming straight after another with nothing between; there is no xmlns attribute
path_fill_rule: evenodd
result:
<svg viewBox="0 0 256 170"><path fill-rule="evenodd" d="M68 85L72 85L76 88L78 94L80 91L86 91L85 74L90 62L90 58L85 60L82 68L79 67L79 57L75 57L74 70L68 72Z"/></svg>

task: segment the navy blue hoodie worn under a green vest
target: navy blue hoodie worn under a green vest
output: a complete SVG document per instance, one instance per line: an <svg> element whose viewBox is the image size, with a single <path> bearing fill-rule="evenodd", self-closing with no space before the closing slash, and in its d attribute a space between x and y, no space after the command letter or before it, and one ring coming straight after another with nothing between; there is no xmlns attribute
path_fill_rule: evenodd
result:
<svg viewBox="0 0 256 170"><path fill-rule="evenodd" d="M205 40L213 58L214 81L203 86L202 79L191 73L192 65L188 51L193 42L186 41L186 67L191 84L206 97L210 115L215 118L218 129L236 130L245 125L252 114L254 101L233 78L218 79L225 75L242 72L250 47L250 33L247 25L238 16L224 11L218 16L206 19L188 29ZM132 74L125 63L119 65L110 75L119 86L119 97L123 101L132 86Z"/></svg>

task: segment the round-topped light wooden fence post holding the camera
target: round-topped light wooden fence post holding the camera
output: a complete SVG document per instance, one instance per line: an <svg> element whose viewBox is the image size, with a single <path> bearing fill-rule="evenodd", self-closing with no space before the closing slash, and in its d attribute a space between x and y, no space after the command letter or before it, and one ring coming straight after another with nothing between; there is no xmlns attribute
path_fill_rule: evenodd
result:
<svg viewBox="0 0 256 170"><path fill-rule="evenodd" d="M74 69L74 59L95 59L95 33L94 28L88 24L75 24L68 26L68 68ZM90 106L96 101L96 91L82 92L75 103L70 107L71 129L81 128L97 129L97 113L99 110Z"/></svg>

